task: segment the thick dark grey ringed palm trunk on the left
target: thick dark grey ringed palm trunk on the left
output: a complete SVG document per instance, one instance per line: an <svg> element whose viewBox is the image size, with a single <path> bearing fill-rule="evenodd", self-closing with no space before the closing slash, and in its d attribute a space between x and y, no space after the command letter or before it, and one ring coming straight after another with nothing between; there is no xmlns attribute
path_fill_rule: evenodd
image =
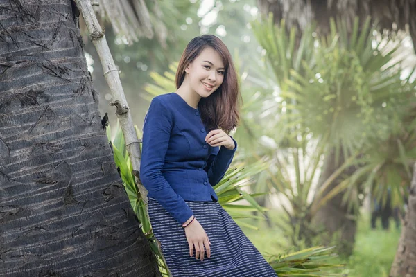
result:
<svg viewBox="0 0 416 277"><path fill-rule="evenodd" d="M71 0L0 0L0 276L159 276Z"/></svg>

